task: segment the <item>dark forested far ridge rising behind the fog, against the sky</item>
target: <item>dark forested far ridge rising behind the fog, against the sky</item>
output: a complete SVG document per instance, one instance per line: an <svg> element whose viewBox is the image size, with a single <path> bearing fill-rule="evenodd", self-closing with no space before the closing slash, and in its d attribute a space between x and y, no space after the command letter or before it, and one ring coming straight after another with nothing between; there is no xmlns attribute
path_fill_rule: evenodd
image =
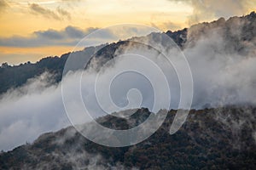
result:
<svg viewBox="0 0 256 170"><path fill-rule="evenodd" d="M153 32L142 38L149 37L156 42L162 41L161 43L164 44L164 40L161 40L160 37L166 34L172 37L173 41L183 49L195 45L195 42L198 42L203 36L207 37L207 35L212 35L213 31L217 31L219 35L225 38L223 48L227 53L238 52L242 55L255 53L254 50L249 49L255 46L256 14L254 12L246 16L231 17L229 20L220 18L210 23L201 23L180 31ZM107 44L99 51L97 51L97 49L102 46L84 48L84 50L73 52L73 56L76 56L78 59L84 57L90 59L91 56L94 55L93 59L101 57L100 59L104 63L114 57L114 53L119 46L127 42L126 40L113 42ZM97 53L95 54L96 51ZM0 94L7 92L11 88L22 86L29 78L38 76L44 71L54 73L55 82L60 82L62 71L69 54L71 53L62 54L61 57L47 57L39 60L35 64L27 62L25 64L11 66L4 63L0 67ZM77 65L77 68L79 68L79 66L80 65Z"/></svg>

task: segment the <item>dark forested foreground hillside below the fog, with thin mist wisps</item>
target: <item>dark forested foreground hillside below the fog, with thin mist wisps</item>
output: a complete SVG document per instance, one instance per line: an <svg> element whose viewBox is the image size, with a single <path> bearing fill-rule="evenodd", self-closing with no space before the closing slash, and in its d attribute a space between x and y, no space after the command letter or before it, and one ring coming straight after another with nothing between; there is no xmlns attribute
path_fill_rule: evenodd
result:
<svg viewBox="0 0 256 170"><path fill-rule="evenodd" d="M170 135L175 113L169 111L162 126L142 143L122 148L90 142L73 127L44 133L32 144L1 153L0 169L256 168L256 108L192 110L183 127ZM142 108L129 118L108 115L97 122L126 129L140 124L150 114Z"/></svg>

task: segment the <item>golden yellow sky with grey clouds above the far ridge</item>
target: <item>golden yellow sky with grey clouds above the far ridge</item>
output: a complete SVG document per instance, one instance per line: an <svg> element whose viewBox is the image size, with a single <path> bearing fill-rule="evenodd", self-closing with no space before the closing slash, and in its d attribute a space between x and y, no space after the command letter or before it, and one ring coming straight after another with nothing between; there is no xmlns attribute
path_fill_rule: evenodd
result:
<svg viewBox="0 0 256 170"><path fill-rule="evenodd" d="M213 0L0 0L0 63L64 54L73 43L63 42L78 41L96 28L133 23L173 31L256 7L247 0L223 2L239 4L226 10Z"/></svg>

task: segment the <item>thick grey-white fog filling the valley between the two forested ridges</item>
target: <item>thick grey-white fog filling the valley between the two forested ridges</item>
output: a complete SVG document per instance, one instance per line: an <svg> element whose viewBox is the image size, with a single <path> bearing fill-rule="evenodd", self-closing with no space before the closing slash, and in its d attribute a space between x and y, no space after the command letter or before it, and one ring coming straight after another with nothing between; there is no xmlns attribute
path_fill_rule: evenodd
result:
<svg viewBox="0 0 256 170"><path fill-rule="evenodd" d="M236 50L232 48L235 42L225 37L221 20L219 22L220 26L208 30L206 28L201 36L196 35L198 31L201 31L201 28L195 26L189 29L187 42L182 49L183 54L188 59L194 82L191 106L193 109L256 104L255 38L250 42L236 42L236 44L246 47L244 50ZM234 21L230 34L239 39L243 24L239 20ZM156 36L161 38L160 33ZM160 39L159 41L164 40ZM180 55L180 52L176 48L168 47L168 44L162 44L162 46L168 57L171 60L176 59L178 63L177 56ZM180 86L175 69L172 65L166 64L164 57L153 48L137 47L132 42L119 46L115 54L120 57L115 59L111 65L108 65L107 69L105 66L99 79L112 80L113 72L122 70L126 65L135 65L133 62L129 63L129 60L125 59L125 55L122 56L124 52L131 55L146 56L155 64L160 65L170 84L172 98L170 107L163 109L178 109ZM90 58L90 56L86 57ZM96 62L95 65L99 65L99 61L96 59L93 61ZM137 61L137 65L146 68L148 63ZM182 67L183 63L180 63L180 66ZM77 84L73 82L78 81L80 73L81 70L72 71L62 78L62 81L67 83L70 92L69 98L71 100L69 102L72 102L73 111L78 114L84 110L77 106L79 101L72 100L75 99L72 96L77 95L76 90L74 90L77 88ZM98 105L94 92L94 81L97 75L98 71L91 67L83 71L83 77L81 78L81 94L84 105L87 105L94 117L106 115L106 112L102 111L102 107L113 111L111 109L113 108L112 103L108 100L103 100L102 105ZM107 82L106 84L99 84L98 88L108 90L113 103L120 108L147 107L152 110L155 102L154 90L162 88L162 83L158 82L160 79L158 79L159 75L155 70L148 69L148 75L152 75L154 80L148 80L143 75L134 72L126 72L113 79L110 89L106 88ZM62 102L61 82L53 84L51 77L54 77L54 75L45 72L39 77L30 79L24 86L10 89L1 96L0 149L11 150L20 144L32 142L41 133L56 131L71 125ZM152 87L150 81L158 82L155 83L156 87ZM129 91L130 89L132 90ZM164 103L165 101L158 102ZM126 108L126 105L129 105L129 107ZM82 122L86 122L86 120L81 120Z"/></svg>

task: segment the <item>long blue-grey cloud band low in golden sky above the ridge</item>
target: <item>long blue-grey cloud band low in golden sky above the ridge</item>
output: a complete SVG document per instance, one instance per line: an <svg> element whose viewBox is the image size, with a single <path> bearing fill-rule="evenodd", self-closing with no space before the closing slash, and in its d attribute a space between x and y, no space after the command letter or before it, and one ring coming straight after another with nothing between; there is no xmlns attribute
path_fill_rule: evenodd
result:
<svg viewBox="0 0 256 170"><path fill-rule="evenodd" d="M134 36L145 36L154 30L151 27L142 27L143 26L127 25L124 26L124 28L120 28L120 26L117 25L102 29L89 27L83 30L78 27L67 26L61 31L54 29L49 29L47 31L34 31L30 37L0 37L0 46L24 48L42 46L75 46L87 35L87 43L79 45L83 47L92 45L96 46L106 42L117 42L120 39L127 39Z"/></svg>

